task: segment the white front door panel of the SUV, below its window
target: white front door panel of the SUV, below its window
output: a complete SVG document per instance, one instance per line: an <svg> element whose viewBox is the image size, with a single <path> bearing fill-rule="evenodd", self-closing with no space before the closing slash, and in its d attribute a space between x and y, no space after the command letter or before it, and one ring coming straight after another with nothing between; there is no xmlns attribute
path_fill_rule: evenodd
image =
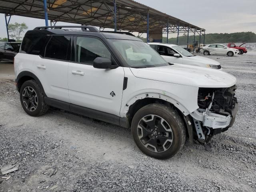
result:
<svg viewBox="0 0 256 192"><path fill-rule="evenodd" d="M123 82L122 67L96 69L92 65L69 63L68 88L72 104L119 116ZM115 96L110 95L112 91Z"/></svg>

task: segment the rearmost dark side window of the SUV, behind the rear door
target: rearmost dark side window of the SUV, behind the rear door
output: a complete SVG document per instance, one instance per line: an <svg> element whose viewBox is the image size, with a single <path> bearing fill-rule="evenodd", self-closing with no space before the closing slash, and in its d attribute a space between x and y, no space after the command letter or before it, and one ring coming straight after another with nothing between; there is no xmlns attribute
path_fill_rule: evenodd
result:
<svg viewBox="0 0 256 192"><path fill-rule="evenodd" d="M48 30L31 30L26 32L22 44L21 53L44 56L45 45L52 34Z"/></svg>

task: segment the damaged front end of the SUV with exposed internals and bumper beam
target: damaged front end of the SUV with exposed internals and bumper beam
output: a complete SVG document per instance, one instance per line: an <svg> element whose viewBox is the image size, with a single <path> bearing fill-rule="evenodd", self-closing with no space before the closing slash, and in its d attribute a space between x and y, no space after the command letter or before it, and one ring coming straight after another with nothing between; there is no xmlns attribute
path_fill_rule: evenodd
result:
<svg viewBox="0 0 256 192"><path fill-rule="evenodd" d="M202 143L234 124L238 111L236 85L229 88L199 88L199 108L190 113L194 123L194 136Z"/></svg>

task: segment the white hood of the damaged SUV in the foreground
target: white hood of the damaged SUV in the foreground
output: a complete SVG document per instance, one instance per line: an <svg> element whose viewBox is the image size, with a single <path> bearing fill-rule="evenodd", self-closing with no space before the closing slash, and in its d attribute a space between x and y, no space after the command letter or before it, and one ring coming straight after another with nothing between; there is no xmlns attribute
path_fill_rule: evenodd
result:
<svg viewBox="0 0 256 192"><path fill-rule="evenodd" d="M138 78L194 87L225 88L236 84L236 78L226 72L183 64L130 70Z"/></svg>

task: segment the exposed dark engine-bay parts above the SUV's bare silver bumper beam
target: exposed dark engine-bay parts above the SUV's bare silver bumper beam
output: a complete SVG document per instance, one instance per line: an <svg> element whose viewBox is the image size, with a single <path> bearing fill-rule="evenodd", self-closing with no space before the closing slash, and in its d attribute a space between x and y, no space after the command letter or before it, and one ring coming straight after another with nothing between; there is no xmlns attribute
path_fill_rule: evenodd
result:
<svg viewBox="0 0 256 192"><path fill-rule="evenodd" d="M221 115L231 115L235 117L238 111L238 102L235 97L236 85L229 88L199 88L198 90L198 106L201 109L206 109L212 101L212 112Z"/></svg>

